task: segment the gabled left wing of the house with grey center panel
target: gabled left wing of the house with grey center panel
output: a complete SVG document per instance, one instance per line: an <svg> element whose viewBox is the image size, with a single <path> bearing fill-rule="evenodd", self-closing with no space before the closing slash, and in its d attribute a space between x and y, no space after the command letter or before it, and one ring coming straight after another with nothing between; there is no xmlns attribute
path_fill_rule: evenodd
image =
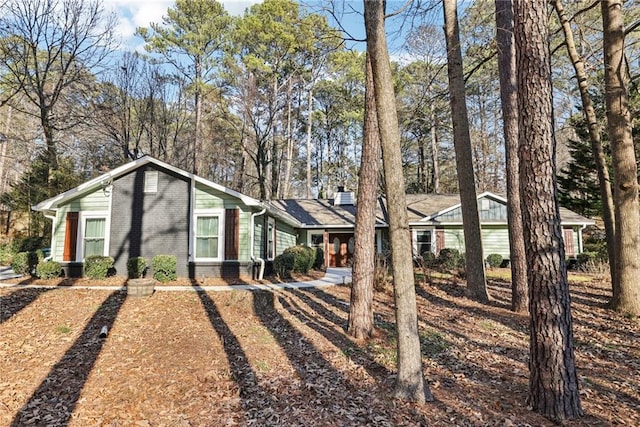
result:
<svg viewBox="0 0 640 427"><path fill-rule="evenodd" d="M34 209L52 220L52 259L80 276L91 255L127 261L175 255L177 273L251 277L295 245L300 224L268 204L151 157L88 181Z"/></svg>

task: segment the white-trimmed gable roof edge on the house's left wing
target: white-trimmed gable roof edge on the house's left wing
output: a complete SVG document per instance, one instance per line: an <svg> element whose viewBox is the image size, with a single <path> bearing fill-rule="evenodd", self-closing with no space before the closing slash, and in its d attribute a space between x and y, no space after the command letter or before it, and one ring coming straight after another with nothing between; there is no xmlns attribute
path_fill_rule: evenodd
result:
<svg viewBox="0 0 640 427"><path fill-rule="evenodd" d="M274 208L270 208L267 204L264 204L262 202L260 202L257 199L254 199L253 197L249 197L245 194L239 193L237 191L234 191L230 188L224 187L220 184L216 184L215 182L209 181L207 179L204 179L202 177L199 177L195 174L192 174L190 172L184 171L182 169L176 168L174 166L171 166L161 160L158 160L156 158L153 158L151 156L143 156L140 157L136 160L132 160L128 163L125 163L122 166L119 166L115 169L112 169L111 171L104 173L100 176L97 176L93 179L90 179L87 182L84 182L80 185L78 185L75 188L72 188L68 191L65 191L64 193L58 194L57 196L54 196L50 199L47 200L43 200L42 202L34 205L32 207L33 210L36 211L53 211L55 209L57 209L60 205L68 202L69 200L72 200L76 197L82 196L84 194L88 194L92 191L95 191L101 187L104 187L106 185L108 185L110 182L112 182L114 179L117 179L123 175L126 175L127 173L138 169L144 165L147 164L153 164L158 166L159 168L162 169L166 169L169 170L177 175L183 176L188 180L193 180L194 182L197 183L201 183L202 185L212 188L214 190L220 191L222 193L228 194L232 197L235 197L239 200L242 201L242 203L244 203L247 206L255 206L258 208L265 208L267 209L267 211L269 213L274 214L275 216L278 216L279 218L281 218L282 220L289 222L293 225L298 226L299 223L298 221L295 220L295 218L291 217L290 215L287 215L286 212L281 212L279 210L276 210Z"/></svg>

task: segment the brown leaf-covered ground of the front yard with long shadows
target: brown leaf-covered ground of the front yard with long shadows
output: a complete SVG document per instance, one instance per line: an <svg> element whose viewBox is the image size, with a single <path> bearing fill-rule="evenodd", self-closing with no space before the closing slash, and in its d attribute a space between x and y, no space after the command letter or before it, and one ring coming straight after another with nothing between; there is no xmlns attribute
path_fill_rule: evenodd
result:
<svg viewBox="0 0 640 427"><path fill-rule="evenodd" d="M572 283L585 416L640 425L640 327L608 311L607 284ZM390 398L393 298L375 295L380 336L350 340L349 288L252 293L0 289L0 425L541 426L527 408L528 321L464 284L417 287L435 401ZM105 339L99 337L106 326Z"/></svg>

